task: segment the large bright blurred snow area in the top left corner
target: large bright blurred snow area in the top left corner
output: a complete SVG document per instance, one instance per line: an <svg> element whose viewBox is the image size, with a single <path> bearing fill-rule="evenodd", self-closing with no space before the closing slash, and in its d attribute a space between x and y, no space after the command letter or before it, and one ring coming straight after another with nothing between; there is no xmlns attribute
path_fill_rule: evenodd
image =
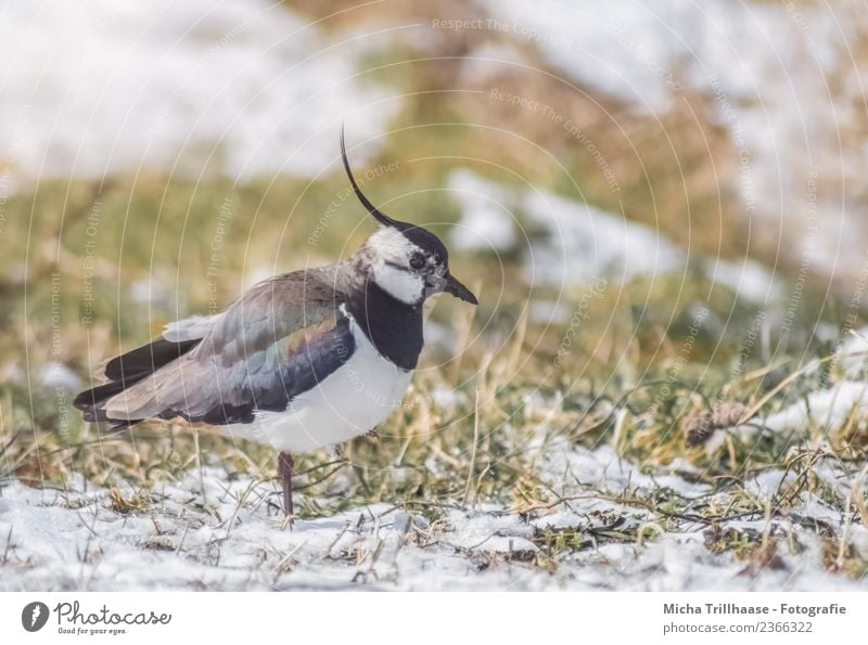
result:
<svg viewBox="0 0 868 645"><path fill-rule="evenodd" d="M148 167L314 176L336 163L341 119L352 145L398 108L355 78L362 40L333 46L282 3L42 0L2 12L12 188Z"/></svg>

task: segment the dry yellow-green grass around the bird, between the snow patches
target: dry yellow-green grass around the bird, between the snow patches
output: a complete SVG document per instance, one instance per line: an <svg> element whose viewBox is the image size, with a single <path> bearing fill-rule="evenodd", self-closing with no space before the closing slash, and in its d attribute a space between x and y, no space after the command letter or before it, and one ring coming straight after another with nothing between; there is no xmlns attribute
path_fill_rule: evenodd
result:
<svg viewBox="0 0 868 645"><path fill-rule="evenodd" d="M444 78L462 79L467 89L484 89L474 86L472 77L462 77L461 65L449 57L474 43L439 44L446 57L407 63L408 69L398 75L407 83L405 89L429 91ZM408 219L442 222L443 231L443 223L457 218L457 207L447 195L425 191L443 185L455 155L473 157L474 151L485 150L540 188L571 196L580 189L591 203L608 208L623 202L628 218L656 225L675 240L686 242L688 224L697 218L713 222L699 232L692 229L693 248L742 255L746 242L737 228L735 206L727 202L735 170L717 166L712 172L709 164L725 156L730 143L710 126L707 98L687 96L662 121L650 124L642 120L648 117L626 115L625 106L614 102L576 100L573 89L544 75L505 74L498 83L506 91L545 95L556 109L596 132L605 142L605 156L622 178L623 192L613 197L587 151L576 152L562 132L545 127L534 115L520 114L516 120L510 112L513 131L565 158L564 169L556 172L551 159L540 159L519 138L500 139L484 128L464 127L507 118L503 105L481 94L464 94L452 102L408 99L403 117L450 125L394 134L383 158L370 163L394 158L407 163L398 176L366 186L372 199L383 203L400 185L406 196L393 209ZM620 131L625 122L633 137ZM634 147L636 133L641 138ZM410 163L423 157L444 158ZM467 163L473 166L472 160ZM656 169L653 176L643 171L648 168ZM475 169L515 181L487 164ZM578 184L572 183L573 178L579 178ZM652 185L655 209L647 208ZM71 392L42 385L39 372L60 361L87 382L97 364L122 347L144 341L166 321L205 311L209 248L227 198L233 215L219 254L216 296L221 305L259 269L297 269L346 254L370 231L368 224L354 229L361 218L355 205L339 211L317 245L306 243L324 205L343 188L344 179L337 175L312 183L280 179L243 185L143 176L114 178L102 186L44 182L36 194L11 197L0 236L0 357L4 357L0 359L0 478L58 489L79 481L108 487L106 503L118 513L144 512L152 504L149 490L177 481L203 463L225 466L230 477L275 478L275 454L269 449L206 435L196 440L188 428L170 423L143 424L131 436L102 436L71 409ZM23 240L29 242L22 244ZM863 472L868 430L856 411L840 427L805 428L792 437L760 431L744 438L729 429L732 418L715 421L720 405L740 410L758 405L753 422L762 426L766 412L821 387L817 374L799 372L800 364L827 357L831 349L815 336L819 308L813 304L824 301L824 294L812 292L809 285L788 337L793 349L770 361L757 350L739 364L755 309L699 273L636 279L610 289L595 302L564 360L557 361L570 318L548 324L535 321L527 306L560 298L572 315L579 287L561 294L545 286L531 288L522 280L519 253L456 256L454 270L473 276L469 282L480 295L480 308L437 305L432 318L450 331L455 347L430 348L405 404L378 429L378 438L360 438L340 456L327 450L299 456L302 517L388 502L431 519L426 532L416 538L424 542L445 530L437 523L447 506L496 502L527 517L552 513L570 499L562 494L563 482L538 475L539 447L566 441L591 449L612 446L624 460L648 470L682 464L690 469L680 475L710 485L713 492L687 500L665 488L650 495L593 491L648 513L652 520L622 526L623 518L600 516L587 528L539 530L534 542L542 555L529 563L527 554L512 553L507 556L510 560L548 569L560 558L601 542L641 544L678 523L694 523L703 527L712 553L731 554L756 575L777 566L779 553L799 549L771 527L781 518L802 521L793 516L802 495L816 495L853 524L868 520ZM87 323L82 322L86 273L95 295L92 321ZM56 299L54 276L60 284ZM130 288L136 283L152 287L146 299ZM709 307L717 324L703 325L686 352L697 302ZM822 322L840 324L828 307L821 312ZM773 337L769 343L778 340ZM709 448L697 440L698 435L686 437L682 426L691 414L694 421L711 424L700 423L697 431L716 428L725 440ZM854 474L850 495L818 474L828 463ZM749 492L748 482L775 469L791 477L768 504ZM122 493L130 486L136 493ZM717 493L726 493L725 504ZM206 499L195 503L207 512ZM768 528L755 532L722 528L736 518L764 519ZM866 554L845 536L821 524L812 530L826 540L825 563L830 570L864 576ZM337 557L361 562L373 554L347 552ZM292 566L292 554L285 554L275 572L279 576Z"/></svg>

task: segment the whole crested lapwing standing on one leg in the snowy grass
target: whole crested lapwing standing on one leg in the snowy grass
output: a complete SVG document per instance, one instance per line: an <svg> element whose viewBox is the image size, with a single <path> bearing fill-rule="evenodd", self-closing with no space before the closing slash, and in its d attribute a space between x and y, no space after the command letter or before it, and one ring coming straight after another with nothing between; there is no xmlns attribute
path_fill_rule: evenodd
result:
<svg viewBox="0 0 868 645"><path fill-rule="evenodd" d="M106 380L74 400L110 433L180 420L272 447L290 519L293 454L371 433L400 405L424 345L424 301L446 293L478 305L434 233L365 196L343 127L340 144L353 192L379 223L354 254L266 279L221 312L169 323L111 359Z"/></svg>

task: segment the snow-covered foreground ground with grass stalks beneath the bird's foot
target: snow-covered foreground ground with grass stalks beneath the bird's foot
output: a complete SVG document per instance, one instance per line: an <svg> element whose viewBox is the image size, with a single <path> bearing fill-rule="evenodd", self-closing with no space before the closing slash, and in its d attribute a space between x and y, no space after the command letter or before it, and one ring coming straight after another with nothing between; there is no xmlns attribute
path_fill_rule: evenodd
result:
<svg viewBox="0 0 868 645"><path fill-rule="evenodd" d="M693 519L688 508L710 496L707 486L688 481L689 466L677 466L640 473L605 446L590 451L556 443L540 455L539 473L561 495L560 503L526 516L500 505L456 503L445 504L432 520L374 504L298 520L292 530L282 526L272 505L275 482L229 478L218 468L206 468L201 479L195 472L156 487L144 512L113 511L107 491L84 481L71 482L67 491L11 482L0 498L0 588L864 589L864 582L826 571L820 539L805 528L816 519L840 532L840 513L804 495L791 517L767 523L760 509L712 528ZM840 487L832 465L829 477ZM782 481L784 474L769 473L746 488L762 508ZM625 491L650 495L664 490L682 504L677 511L684 517L664 518L612 501ZM715 493L713 501L724 509L728 493ZM550 554L540 536L565 528L575 529L586 543L544 566ZM641 540L623 539L637 529L642 529ZM778 557L758 572L729 553L712 553L709 532L728 529L780 537ZM851 525L846 531L854 547L868 547L864 527Z"/></svg>

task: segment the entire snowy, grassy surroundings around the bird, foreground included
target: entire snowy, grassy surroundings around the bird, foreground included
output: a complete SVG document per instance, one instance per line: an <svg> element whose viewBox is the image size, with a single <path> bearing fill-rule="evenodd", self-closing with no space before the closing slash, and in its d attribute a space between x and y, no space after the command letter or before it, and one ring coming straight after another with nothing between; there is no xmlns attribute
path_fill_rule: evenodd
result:
<svg viewBox="0 0 868 645"><path fill-rule="evenodd" d="M0 1L0 578L355 585L397 508L404 589L864 589L867 36L857 0ZM342 125L480 307L427 304L379 439L298 456L289 533L272 450L72 399L374 231Z"/></svg>

